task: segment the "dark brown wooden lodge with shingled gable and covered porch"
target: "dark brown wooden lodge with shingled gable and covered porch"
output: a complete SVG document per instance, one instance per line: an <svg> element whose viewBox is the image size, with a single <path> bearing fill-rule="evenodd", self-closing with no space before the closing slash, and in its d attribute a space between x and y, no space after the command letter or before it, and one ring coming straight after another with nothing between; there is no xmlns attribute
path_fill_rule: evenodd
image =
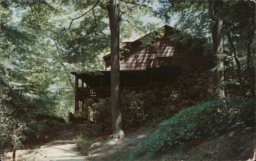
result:
<svg viewBox="0 0 256 161"><path fill-rule="evenodd" d="M121 89L135 91L163 89L172 84L183 67L190 69L210 69L212 56L204 56L203 49L191 49L191 43L181 44L170 40L173 28L166 25L165 34L152 45L143 47L140 39L126 43L129 52L120 58ZM84 111L87 98L107 98L111 96L111 55L106 55L105 71L99 73L71 72L76 77L75 111ZM80 107L79 107L79 102ZM73 119L70 118L70 121Z"/></svg>

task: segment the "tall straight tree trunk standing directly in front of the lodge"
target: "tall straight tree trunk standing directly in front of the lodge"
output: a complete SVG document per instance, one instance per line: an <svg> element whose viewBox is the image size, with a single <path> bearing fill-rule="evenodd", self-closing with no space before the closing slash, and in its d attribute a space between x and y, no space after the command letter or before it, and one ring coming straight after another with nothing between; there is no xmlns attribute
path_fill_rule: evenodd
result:
<svg viewBox="0 0 256 161"><path fill-rule="evenodd" d="M111 31L111 107L113 134L123 136L121 129L120 69L119 69L119 0L110 0L108 6Z"/></svg>

